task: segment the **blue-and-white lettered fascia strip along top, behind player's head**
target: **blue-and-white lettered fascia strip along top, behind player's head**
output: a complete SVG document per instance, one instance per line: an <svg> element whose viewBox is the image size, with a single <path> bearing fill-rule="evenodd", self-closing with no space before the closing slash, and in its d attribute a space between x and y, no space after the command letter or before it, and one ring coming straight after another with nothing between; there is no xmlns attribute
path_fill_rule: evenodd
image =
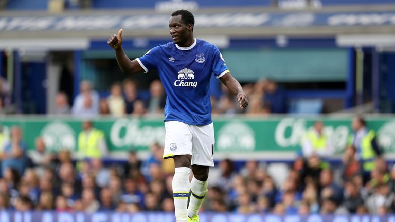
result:
<svg viewBox="0 0 395 222"><path fill-rule="evenodd" d="M165 29L168 20L167 14L0 16L0 31ZM207 13L196 14L195 20L202 28L372 26L395 25L395 12Z"/></svg>

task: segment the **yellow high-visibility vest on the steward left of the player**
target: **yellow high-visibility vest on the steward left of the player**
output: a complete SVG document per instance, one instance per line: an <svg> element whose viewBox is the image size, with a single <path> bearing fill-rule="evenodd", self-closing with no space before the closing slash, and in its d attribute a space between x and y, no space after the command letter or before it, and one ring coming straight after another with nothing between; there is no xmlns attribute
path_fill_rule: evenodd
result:
<svg viewBox="0 0 395 222"><path fill-rule="evenodd" d="M99 147L99 142L104 138L104 133L101 130L93 128L88 134L82 131L78 135L78 151L82 157L100 158L102 153Z"/></svg>

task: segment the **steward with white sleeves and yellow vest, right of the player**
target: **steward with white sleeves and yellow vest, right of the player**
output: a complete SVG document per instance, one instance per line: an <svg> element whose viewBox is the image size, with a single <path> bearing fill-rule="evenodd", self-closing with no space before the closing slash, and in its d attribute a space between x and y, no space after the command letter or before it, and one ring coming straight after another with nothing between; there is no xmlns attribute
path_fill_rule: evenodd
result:
<svg viewBox="0 0 395 222"><path fill-rule="evenodd" d="M324 123L316 121L301 139L304 157L317 155L320 158L331 157L334 153L330 139L324 134Z"/></svg>

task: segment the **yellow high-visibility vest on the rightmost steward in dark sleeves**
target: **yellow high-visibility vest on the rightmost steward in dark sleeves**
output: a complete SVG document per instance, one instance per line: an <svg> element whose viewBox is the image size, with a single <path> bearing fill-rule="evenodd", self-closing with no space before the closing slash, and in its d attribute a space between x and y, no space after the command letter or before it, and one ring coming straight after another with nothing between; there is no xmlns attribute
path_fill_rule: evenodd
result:
<svg viewBox="0 0 395 222"><path fill-rule="evenodd" d="M370 130L361 140L360 147L356 147L356 149L361 149L360 158L363 161L364 171L371 171L375 167L374 159L377 157L376 152L373 149L372 141L375 138L376 133L373 130ZM355 137L355 136L354 136ZM354 137L350 137L350 144L353 143Z"/></svg>

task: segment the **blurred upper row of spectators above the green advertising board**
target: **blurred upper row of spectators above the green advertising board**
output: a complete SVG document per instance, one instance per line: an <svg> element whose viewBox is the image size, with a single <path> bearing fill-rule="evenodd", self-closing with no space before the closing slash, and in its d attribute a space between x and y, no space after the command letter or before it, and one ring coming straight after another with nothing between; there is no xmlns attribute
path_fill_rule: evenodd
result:
<svg viewBox="0 0 395 222"><path fill-rule="evenodd" d="M214 82L213 84L219 83ZM213 114L282 114L287 112L287 98L283 87L272 80L260 80L256 83L243 86L250 105L241 110L235 95L227 88L218 85L219 93L212 93L211 105ZM162 115L166 104L166 94L160 80L150 83L146 95L137 90L137 83L127 79L123 83L113 83L108 96L99 96L91 82L84 80L80 83L80 93L69 104L67 96L59 92L56 96L54 114L71 114L79 117L94 117L98 115L111 115L120 117L124 115Z"/></svg>

